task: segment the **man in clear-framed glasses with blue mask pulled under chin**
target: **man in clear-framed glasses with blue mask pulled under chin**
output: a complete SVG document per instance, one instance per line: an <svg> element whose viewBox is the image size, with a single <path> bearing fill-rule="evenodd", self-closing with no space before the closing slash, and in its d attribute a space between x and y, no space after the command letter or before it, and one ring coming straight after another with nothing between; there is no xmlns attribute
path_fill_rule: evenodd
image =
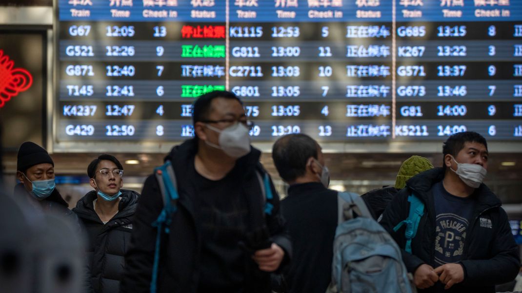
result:
<svg viewBox="0 0 522 293"><path fill-rule="evenodd" d="M125 267L139 194L121 189L123 166L114 156L101 155L87 167L91 190L73 211L89 237L88 266L96 293L116 293Z"/></svg>

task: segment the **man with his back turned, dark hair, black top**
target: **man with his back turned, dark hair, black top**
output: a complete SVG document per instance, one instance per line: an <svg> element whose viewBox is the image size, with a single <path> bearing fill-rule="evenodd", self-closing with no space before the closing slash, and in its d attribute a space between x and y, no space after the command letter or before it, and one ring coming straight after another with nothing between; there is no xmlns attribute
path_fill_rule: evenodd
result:
<svg viewBox="0 0 522 293"><path fill-rule="evenodd" d="M281 211L292 239L293 258L284 274L291 293L324 293L331 281L337 227L337 192L327 189L329 172L317 142L305 134L278 139L272 159L287 182Z"/></svg>

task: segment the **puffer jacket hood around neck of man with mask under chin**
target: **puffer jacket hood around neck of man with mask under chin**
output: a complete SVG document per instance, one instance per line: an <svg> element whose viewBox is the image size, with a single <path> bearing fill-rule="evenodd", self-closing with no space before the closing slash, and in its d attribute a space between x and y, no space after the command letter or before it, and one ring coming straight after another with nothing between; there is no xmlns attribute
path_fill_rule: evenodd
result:
<svg viewBox="0 0 522 293"><path fill-rule="evenodd" d="M133 215L138 203L139 194L137 192L128 189L120 189L120 191L122 192L122 195L120 196L122 199L120 200L120 203L118 203L118 213L115 218L123 218ZM78 200L73 211L79 218L99 221L99 217L94 211L94 206L92 204L94 199L97 198L98 195L96 190L91 190L84 197Z"/></svg>

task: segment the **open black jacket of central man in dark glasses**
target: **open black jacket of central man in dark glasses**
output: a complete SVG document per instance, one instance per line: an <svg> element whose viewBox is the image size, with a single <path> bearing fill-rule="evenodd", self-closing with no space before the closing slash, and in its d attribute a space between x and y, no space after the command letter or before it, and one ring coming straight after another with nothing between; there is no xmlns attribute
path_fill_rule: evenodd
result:
<svg viewBox="0 0 522 293"><path fill-rule="evenodd" d="M187 176L186 168L193 163L197 152L197 142L191 139L172 149L165 159L172 162L177 190L180 195L177 201L177 211L172 215L170 233L162 234L161 254L158 273L158 292L183 292L197 291L199 255L201 249L201 232L197 228L199 223L195 218L195 190L194 179ZM291 246L286 234L284 234L284 221L279 213L279 199L272 187L275 200L272 216L264 219L264 198L262 189L256 175L259 170L260 151L252 149L250 154L238 159L243 172L243 177L238 178L238 184L242 185L248 200L248 210L251 229L258 228L266 223L272 240L286 252L286 260L290 257ZM262 170L263 171L263 170ZM263 171L264 172L264 171ZM125 257L125 275L120 292L139 293L149 292L153 257L156 245L157 228L151 225L163 208L163 199L158 187L156 177L151 175L144 184L143 192L139 199L134 222L134 231L131 240L131 249ZM253 260L248 258L245 264L246 282L250 286L248 293L270 292L270 277L268 273L259 271Z"/></svg>

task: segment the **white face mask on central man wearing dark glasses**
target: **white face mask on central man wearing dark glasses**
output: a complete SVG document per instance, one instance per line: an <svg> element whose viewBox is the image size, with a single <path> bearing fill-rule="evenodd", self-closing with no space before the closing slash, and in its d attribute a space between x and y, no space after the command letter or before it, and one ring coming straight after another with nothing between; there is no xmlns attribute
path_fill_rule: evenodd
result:
<svg viewBox="0 0 522 293"><path fill-rule="evenodd" d="M219 133L219 145L205 141L207 145L221 149L225 154L234 159L241 158L250 152L250 135L248 135L248 129L242 123L235 123L223 130L208 124L205 125L210 130Z"/></svg>

